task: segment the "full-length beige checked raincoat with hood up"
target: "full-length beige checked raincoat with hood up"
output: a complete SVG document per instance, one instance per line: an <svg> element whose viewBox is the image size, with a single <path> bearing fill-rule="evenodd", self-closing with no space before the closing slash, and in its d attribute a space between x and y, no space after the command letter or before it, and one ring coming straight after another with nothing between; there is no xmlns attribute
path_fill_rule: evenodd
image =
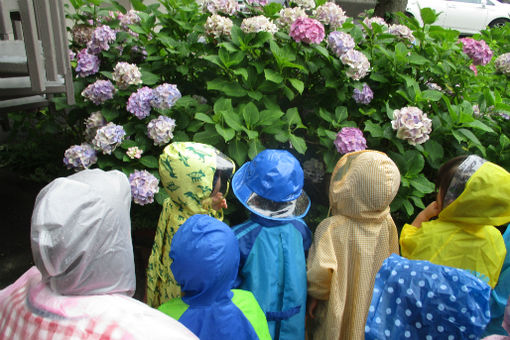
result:
<svg viewBox="0 0 510 340"><path fill-rule="evenodd" d="M389 204L399 185L397 166L382 152L338 161L329 188L332 216L317 227L308 256L308 294L319 300L313 339L364 339L375 275L398 254Z"/></svg>

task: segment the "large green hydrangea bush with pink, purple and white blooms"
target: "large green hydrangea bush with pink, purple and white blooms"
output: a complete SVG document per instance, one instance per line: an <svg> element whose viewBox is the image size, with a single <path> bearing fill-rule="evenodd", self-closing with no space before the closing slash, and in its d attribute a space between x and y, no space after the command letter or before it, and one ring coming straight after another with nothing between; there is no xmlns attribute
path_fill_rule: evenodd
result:
<svg viewBox="0 0 510 340"><path fill-rule="evenodd" d="M324 0L97 2L71 1L82 132L64 163L122 169L139 205L164 199L157 158L172 141L238 166L284 148L326 173L344 153L381 150L401 171L392 210L404 215L453 156L510 166L510 27L459 39L430 9L424 26L403 14L390 25Z"/></svg>

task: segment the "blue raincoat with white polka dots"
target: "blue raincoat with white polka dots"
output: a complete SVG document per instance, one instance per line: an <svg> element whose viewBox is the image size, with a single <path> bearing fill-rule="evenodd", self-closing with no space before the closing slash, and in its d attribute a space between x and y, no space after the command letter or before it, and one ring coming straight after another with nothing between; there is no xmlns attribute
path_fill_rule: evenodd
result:
<svg viewBox="0 0 510 340"><path fill-rule="evenodd" d="M365 339L478 339L489 296L466 270L392 254L376 275Z"/></svg>

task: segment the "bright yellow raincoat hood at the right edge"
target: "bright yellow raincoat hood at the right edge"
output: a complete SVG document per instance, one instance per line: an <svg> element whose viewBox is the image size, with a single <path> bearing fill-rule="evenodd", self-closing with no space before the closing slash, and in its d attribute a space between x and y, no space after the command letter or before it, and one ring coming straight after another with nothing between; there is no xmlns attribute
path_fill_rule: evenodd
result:
<svg viewBox="0 0 510 340"><path fill-rule="evenodd" d="M510 173L485 162L469 178L462 194L439 214L439 220L471 225L510 221Z"/></svg>

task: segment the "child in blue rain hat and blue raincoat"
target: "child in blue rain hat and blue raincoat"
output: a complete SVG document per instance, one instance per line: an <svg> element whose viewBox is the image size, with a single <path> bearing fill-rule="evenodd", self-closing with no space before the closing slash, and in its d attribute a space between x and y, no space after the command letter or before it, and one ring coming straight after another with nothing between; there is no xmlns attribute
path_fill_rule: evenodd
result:
<svg viewBox="0 0 510 340"><path fill-rule="evenodd" d="M265 312L273 339L305 338L306 260L311 232L303 169L288 151L264 150L234 174L235 196L251 212L234 227L241 263L237 284Z"/></svg>

